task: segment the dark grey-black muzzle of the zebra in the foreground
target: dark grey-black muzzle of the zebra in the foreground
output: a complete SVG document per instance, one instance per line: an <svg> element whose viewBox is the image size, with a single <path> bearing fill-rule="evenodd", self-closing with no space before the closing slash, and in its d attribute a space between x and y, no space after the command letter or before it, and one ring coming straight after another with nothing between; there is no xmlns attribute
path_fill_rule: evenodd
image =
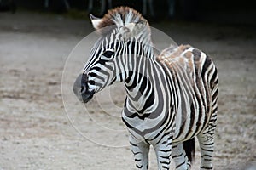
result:
<svg viewBox="0 0 256 170"><path fill-rule="evenodd" d="M80 74L73 84L73 93L79 98L83 103L87 103L92 99L94 92L89 91L88 79L86 74Z"/></svg>

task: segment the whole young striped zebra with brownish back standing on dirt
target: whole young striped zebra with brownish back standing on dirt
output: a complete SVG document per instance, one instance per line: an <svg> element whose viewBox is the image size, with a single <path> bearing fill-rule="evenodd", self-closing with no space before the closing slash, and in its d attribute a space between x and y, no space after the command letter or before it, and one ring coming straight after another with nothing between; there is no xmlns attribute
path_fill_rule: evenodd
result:
<svg viewBox="0 0 256 170"><path fill-rule="evenodd" d="M128 128L137 169L148 169L153 145L159 169L189 169L195 137L201 169L212 169L217 120L218 73L207 54L186 46L158 52L147 20L128 7L90 15L100 38L73 86L86 103L113 82L124 82L122 120ZM111 26L111 29L108 27Z"/></svg>

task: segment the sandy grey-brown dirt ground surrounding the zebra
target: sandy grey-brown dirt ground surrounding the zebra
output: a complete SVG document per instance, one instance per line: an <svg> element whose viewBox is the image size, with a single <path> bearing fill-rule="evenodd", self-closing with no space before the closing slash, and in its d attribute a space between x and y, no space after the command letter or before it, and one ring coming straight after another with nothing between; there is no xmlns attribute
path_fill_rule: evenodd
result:
<svg viewBox="0 0 256 170"><path fill-rule="evenodd" d="M215 169L256 169L255 28L187 22L153 26L178 44L207 52L218 66ZM82 59L68 56L91 31L89 20L0 14L1 170L135 169L120 119L122 88L110 88L85 107L69 94L69 77L78 74L89 52L80 45ZM197 146L193 169L199 162ZM149 167L156 169L153 150Z"/></svg>

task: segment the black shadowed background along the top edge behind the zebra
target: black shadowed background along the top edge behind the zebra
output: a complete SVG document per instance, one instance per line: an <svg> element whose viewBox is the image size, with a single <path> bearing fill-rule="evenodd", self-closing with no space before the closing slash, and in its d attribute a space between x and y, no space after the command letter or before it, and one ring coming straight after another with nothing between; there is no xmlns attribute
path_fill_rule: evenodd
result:
<svg viewBox="0 0 256 170"><path fill-rule="evenodd" d="M80 12L86 12L89 3L88 0L69 0L67 2L72 10L76 9ZM92 14L101 15L100 2L99 0L94 0ZM150 14L147 14L145 17L152 21L171 20L167 17L167 0L154 0L153 2L155 16L152 17ZM256 3L253 0L176 0L175 3L175 15L172 17L172 20L197 20L256 26ZM142 12L143 1L113 0L113 8L121 5L129 6ZM44 0L1 0L0 9L9 9L13 12L20 9L57 13L67 12L63 0L49 0L49 8L44 8ZM107 12L107 9L105 12Z"/></svg>

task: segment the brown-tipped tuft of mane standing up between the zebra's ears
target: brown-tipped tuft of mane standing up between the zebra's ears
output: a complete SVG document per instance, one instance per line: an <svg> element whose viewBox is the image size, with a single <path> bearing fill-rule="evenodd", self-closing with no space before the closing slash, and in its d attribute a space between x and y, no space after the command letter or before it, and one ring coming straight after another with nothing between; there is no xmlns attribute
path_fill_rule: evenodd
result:
<svg viewBox="0 0 256 170"><path fill-rule="evenodd" d="M145 20L137 10L129 7L119 7L108 10L108 13L105 14L98 24L97 29L101 29L107 26L116 25L127 26L130 23L138 23Z"/></svg>

